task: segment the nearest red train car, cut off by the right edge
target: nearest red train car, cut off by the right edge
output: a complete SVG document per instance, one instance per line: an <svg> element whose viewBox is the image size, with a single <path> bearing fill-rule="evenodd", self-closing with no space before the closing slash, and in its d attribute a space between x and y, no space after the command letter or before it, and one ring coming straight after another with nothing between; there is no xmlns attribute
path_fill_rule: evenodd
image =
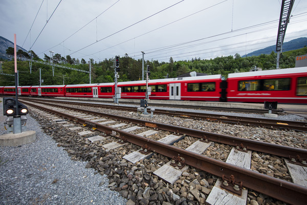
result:
<svg viewBox="0 0 307 205"><path fill-rule="evenodd" d="M307 103L307 67L228 74L227 101Z"/></svg>

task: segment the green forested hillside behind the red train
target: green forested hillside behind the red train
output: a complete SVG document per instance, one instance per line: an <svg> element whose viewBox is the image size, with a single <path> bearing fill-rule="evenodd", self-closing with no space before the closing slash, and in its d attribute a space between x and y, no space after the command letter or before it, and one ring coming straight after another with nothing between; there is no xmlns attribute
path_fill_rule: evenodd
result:
<svg viewBox="0 0 307 205"><path fill-rule="evenodd" d="M7 49L7 53L11 49ZM22 53L22 51L19 51ZM280 68L292 68L295 66L295 56L307 53L307 48L287 51L281 54ZM51 59L45 55L44 59L39 59L35 53L32 53L35 59L49 62ZM103 61L92 61L92 83L111 83L114 82L113 59L104 59ZM86 64L82 58L74 59L69 55L66 57L55 54L53 57L55 64L67 67L77 68L89 71L89 64ZM120 71L118 81L129 81L142 79L142 60L135 60L129 57L120 56ZM241 57L239 54L234 56L216 57L210 60L200 59L198 57L185 61L158 62L156 60L147 60L144 67L150 66L150 79L165 78L169 74L169 78L177 77L181 74L196 71L206 73L208 75L222 74L227 78L228 73L246 72L255 66L262 70L276 68L276 54L261 54L259 56ZM41 68L42 85L62 85L63 79L65 85L70 84L88 84L90 77L88 73L78 72L70 69L55 67L54 76L52 75L52 67L48 65L33 63L32 73L30 74L29 61L18 61L17 69L19 71L19 86L39 85L39 68ZM4 61L2 64L3 73L14 74L14 61ZM0 75L0 86L14 86L14 76Z"/></svg>

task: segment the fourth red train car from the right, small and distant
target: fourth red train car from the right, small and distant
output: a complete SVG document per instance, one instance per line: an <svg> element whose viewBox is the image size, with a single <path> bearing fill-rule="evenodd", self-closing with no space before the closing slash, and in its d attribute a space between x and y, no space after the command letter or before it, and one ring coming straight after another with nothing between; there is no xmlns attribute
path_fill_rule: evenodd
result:
<svg viewBox="0 0 307 205"><path fill-rule="evenodd" d="M64 97L65 92L64 92L64 87L63 85L61 86L32 86L30 94L33 96L46 96L46 97ZM32 92L33 89L33 92ZM36 92L34 92L37 89Z"/></svg>

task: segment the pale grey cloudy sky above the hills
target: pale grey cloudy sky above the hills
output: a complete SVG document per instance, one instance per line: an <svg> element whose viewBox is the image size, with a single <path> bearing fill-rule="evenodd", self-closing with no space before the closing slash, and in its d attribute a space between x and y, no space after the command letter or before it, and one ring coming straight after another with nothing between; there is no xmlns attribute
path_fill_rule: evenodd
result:
<svg viewBox="0 0 307 205"><path fill-rule="evenodd" d="M13 42L16 33L40 58L243 56L276 44L280 8L281 0L1 0L0 36ZM307 1L296 0L292 15L284 42L307 37Z"/></svg>

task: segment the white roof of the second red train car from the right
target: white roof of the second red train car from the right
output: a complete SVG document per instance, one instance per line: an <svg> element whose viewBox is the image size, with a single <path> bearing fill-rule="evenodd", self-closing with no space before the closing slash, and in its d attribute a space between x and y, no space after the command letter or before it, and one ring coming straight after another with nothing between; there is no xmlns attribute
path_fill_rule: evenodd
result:
<svg viewBox="0 0 307 205"><path fill-rule="evenodd" d="M221 79L221 75L203 75L203 76L195 76L195 77L174 77L174 78L165 78L165 79L153 79L148 80L148 83L178 83L180 81L187 81L187 80L203 80L203 79ZM146 80L136 80L136 81L126 81L126 82L119 82L118 85L126 85L126 84L144 84Z"/></svg>

